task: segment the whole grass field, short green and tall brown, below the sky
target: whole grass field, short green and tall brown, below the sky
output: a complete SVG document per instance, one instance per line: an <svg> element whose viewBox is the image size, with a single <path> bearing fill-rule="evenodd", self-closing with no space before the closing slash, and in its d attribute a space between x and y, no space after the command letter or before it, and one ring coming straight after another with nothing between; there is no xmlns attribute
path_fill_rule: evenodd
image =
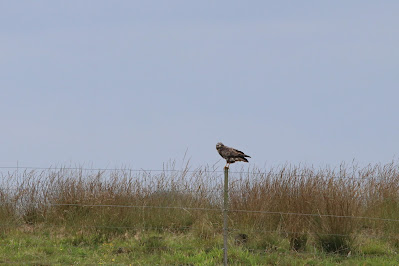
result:
<svg viewBox="0 0 399 266"><path fill-rule="evenodd" d="M223 173L3 172L0 263L215 265ZM399 262L399 167L230 172L231 264Z"/></svg>

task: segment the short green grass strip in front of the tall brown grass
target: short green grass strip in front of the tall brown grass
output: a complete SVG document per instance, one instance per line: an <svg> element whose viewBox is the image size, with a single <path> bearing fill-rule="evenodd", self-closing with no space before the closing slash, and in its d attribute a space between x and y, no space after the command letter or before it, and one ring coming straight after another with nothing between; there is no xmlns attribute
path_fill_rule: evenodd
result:
<svg viewBox="0 0 399 266"><path fill-rule="evenodd" d="M105 240L107 239L107 240ZM362 240L363 241L363 240ZM351 254L326 253L313 242L303 252L290 249L278 235L249 238L247 243L229 240L231 265L397 265L399 251L384 240L366 239ZM112 237L58 228L23 227L9 230L0 239L1 264L125 264L125 265L220 265L223 239L199 238L193 232L129 232Z"/></svg>

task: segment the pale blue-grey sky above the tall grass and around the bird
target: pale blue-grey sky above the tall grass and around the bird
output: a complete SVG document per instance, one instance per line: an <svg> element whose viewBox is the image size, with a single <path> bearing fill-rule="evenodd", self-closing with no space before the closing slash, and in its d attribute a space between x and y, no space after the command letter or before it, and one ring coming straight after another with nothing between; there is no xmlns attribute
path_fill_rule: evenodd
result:
<svg viewBox="0 0 399 266"><path fill-rule="evenodd" d="M219 141L251 166L391 161L398 12L399 1L1 1L0 165L159 169L187 150L195 167L220 159Z"/></svg>

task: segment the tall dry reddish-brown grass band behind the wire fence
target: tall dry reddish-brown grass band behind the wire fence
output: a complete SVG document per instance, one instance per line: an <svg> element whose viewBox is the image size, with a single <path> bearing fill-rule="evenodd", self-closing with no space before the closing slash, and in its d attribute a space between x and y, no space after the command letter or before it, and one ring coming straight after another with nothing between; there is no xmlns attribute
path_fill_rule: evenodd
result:
<svg viewBox="0 0 399 266"><path fill-rule="evenodd" d="M161 172L64 168L3 173L0 223L194 231L209 237L222 230L222 175L209 168L190 170L188 164ZM362 232L399 235L395 163L337 169L284 165L231 172L230 180L233 231L282 234L295 250L311 236L324 250L342 253Z"/></svg>

